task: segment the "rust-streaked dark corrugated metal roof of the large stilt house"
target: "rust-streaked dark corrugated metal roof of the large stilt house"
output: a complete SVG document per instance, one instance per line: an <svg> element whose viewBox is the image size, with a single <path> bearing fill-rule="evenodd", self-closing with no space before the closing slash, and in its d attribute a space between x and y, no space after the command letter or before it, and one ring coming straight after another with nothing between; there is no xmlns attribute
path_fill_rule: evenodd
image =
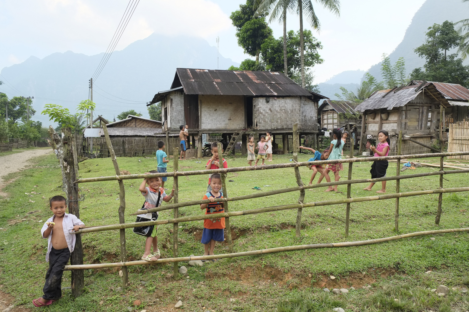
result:
<svg viewBox="0 0 469 312"><path fill-rule="evenodd" d="M316 96L283 73L177 68L173 87L182 85L185 94L251 96Z"/></svg>

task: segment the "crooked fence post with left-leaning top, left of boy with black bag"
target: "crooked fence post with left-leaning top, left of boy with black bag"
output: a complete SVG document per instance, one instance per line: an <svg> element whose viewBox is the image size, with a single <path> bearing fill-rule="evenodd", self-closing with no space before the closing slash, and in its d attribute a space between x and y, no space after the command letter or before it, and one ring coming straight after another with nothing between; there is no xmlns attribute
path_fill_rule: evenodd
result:
<svg viewBox="0 0 469 312"><path fill-rule="evenodd" d="M121 169L119 169L119 165L117 164L116 154L113 149L113 145L111 143L111 138L109 138L109 132L107 131L106 124L103 123L103 132L104 137L106 138L106 145L107 149L109 150L109 154L111 155L111 160L113 161L114 171L116 175L121 174ZM124 189L124 181L119 180L119 223L125 223L125 189ZM121 262L127 261L127 249L125 247L125 229L119 230L119 237L121 243ZM127 267L122 267L122 286L127 287L129 286L129 272Z"/></svg>

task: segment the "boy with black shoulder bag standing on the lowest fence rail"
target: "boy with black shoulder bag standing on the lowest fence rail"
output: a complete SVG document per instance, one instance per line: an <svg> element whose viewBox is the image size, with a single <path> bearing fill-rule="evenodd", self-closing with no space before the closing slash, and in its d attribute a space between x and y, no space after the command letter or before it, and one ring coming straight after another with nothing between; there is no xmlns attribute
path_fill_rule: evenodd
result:
<svg viewBox="0 0 469 312"><path fill-rule="evenodd" d="M145 172L145 174L157 174L158 171L151 170L150 172ZM174 196L174 187L170 195L166 195L165 190L161 188L161 177L144 179L140 188L138 189L142 195L145 197L144 209L151 209L159 207L162 201L166 203L169 202ZM148 184L148 186L146 186ZM158 201L159 199L159 201ZM157 217L158 219L158 212ZM142 260L146 261L157 261L161 254L158 249L158 238L156 237L157 226L153 227L153 232L151 236L147 237L145 240L145 252L142 256ZM153 245L153 254L151 254L151 245Z"/></svg>

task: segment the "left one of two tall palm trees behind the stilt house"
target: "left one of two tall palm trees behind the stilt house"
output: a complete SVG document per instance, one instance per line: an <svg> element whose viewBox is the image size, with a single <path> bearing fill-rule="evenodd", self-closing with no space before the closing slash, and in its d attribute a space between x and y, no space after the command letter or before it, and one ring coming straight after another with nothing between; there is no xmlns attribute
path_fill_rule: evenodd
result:
<svg viewBox="0 0 469 312"><path fill-rule="evenodd" d="M256 15L261 12L268 12L270 14L269 23L275 19L283 22L283 73L288 75L287 66L287 9L293 11L295 8L296 0L258 0L260 1L257 8ZM281 12L281 15L280 15Z"/></svg>

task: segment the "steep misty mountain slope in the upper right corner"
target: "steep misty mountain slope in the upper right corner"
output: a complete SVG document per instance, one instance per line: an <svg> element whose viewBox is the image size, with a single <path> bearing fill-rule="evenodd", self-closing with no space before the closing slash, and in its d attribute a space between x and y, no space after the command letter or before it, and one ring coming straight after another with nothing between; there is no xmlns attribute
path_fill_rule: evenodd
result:
<svg viewBox="0 0 469 312"><path fill-rule="evenodd" d="M469 3L467 2L463 3L461 0L426 0L412 18L412 22L407 28L401 43L389 54L391 64L395 64L398 58L403 57L406 62L407 74L410 74L414 68L422 67L425 60L419 58L414 49L425 43L427 29L433 26L434 23L441 24L446 20L455 23L466 18L469 18ZM455 53L455 51L452 53ZM464 64L468 65L469 60L466 60ZM368 72L380 80L381 63L371 66ZM364 75L362 79L364 79Z"/></svg>

